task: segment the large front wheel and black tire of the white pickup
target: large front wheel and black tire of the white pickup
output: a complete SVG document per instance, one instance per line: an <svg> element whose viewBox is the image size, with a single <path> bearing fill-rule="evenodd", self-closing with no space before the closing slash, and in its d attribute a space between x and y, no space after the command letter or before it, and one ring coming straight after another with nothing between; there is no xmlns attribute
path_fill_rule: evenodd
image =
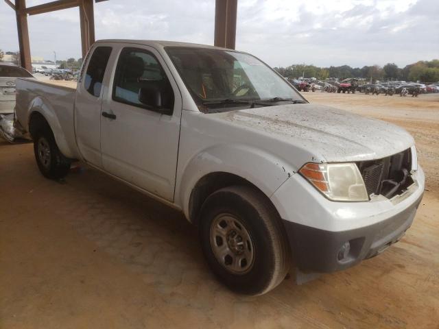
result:
<svg viewBox="0 0 439 329"><path fill-rule="evenodd" d="M215 276L229 289L261 295L282 282L291 264L287 236L278 212L261 191L248 186L222 188L206 199L200 215L199 234L204 256ZM223 228L228 218L233 223L226 223ZM220 234L218 229L227 232L226 241L217 235ZM230 235L231 243L228 242ZM244 238L238 240L241 245L237 246L236 239L241 236ZM224 257L215 256L215 252L224 250L223 243L225 253L229 254L221 252ZM236 251L236 247L242 249ZM239 258L242 259L235 262Z"/></svg>

